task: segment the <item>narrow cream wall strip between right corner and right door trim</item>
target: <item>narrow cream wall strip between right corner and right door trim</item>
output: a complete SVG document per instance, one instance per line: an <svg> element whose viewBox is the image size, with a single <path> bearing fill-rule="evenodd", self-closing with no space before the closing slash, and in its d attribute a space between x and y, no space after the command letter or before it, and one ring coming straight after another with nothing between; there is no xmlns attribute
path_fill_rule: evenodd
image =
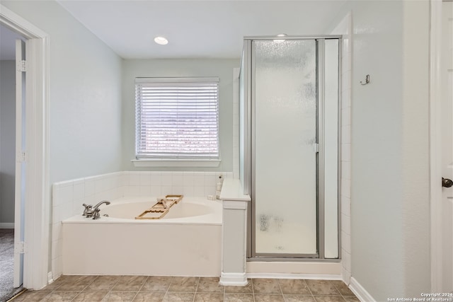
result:
<svg viewBox="0 0 453 302"><path fill-rule="evenodd" d="M406 296L430 290L430 3L403 3L403 265Z"/></svg>

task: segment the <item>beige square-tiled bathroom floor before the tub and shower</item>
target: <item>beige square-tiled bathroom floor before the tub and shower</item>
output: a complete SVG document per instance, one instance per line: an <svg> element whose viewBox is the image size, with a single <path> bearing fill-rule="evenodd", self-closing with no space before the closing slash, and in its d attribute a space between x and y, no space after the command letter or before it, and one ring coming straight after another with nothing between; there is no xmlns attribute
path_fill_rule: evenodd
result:
<svg viewBox="0 0 453 302"><path fill-rule="evenodd" d="M248 279L247 286L221 286L219 278L154 276L62 276L19 301L352 302L343 281Z"/></svg>

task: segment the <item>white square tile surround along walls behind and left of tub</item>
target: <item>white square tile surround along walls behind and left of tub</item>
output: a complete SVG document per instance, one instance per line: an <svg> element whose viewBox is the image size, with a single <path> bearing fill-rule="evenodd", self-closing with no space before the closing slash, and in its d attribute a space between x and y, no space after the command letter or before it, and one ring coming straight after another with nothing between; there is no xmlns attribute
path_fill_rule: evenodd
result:
<svg viewBox="0 0 453 302"><path fill-rule="evenodd" d="M52 274L62 275L62 221L83 211L82 204L97 204L120 197L184 194L214 195L219 176L231 172L122 171L55 182L52 186Z"/></svg>

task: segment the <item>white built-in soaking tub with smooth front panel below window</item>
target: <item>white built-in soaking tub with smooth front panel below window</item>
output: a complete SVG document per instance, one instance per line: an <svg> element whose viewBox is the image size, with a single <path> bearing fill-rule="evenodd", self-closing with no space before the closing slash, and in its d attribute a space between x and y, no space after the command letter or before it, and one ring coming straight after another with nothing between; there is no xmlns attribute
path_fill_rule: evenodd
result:
<svg viewBox="0 0 453 302"><path fill-rule="evenodd" d="M63 274L219 276L222 203L184 197L161 219L134 219L155 203L124 197L101 205L101 219L63 221Z"/></svg>

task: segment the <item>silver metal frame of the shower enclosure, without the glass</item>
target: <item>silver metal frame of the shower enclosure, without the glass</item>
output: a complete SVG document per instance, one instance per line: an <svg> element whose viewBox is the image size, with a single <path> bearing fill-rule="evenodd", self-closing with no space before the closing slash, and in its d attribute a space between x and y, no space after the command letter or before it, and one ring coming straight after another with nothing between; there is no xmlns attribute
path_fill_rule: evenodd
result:
<svg viewBox="0 0 453 302"><path fill-rule="evenodd" d="M255 156L253 150L255 149L255 112L253 110L255 105L255 95L252 91L255 90L255 83L252 79L253 70L255 69L254 61L252 59L253 53L253 40L316 40L316 141L319 144L319 153L316 156L316 208L317 208L317 219L316 219L316 254L281 254L281 253L257 253L256 252L256 207L255 207L255 175L253 173L256 165ZM338 40L338 258L326 258L325 257L325 237L324 237L324 159L325 149L323 146L324 139L324 42L325 40L335 39ZM243 146L243 189L244 194L251 195L251 204L248 207L248 223L247 223L247 257L248 261L319 261L323 260L326 262L338 262L341 259L341 208L340 208L340 196L341 196L341 58L342 58L342 39L341 35L306 35L306 36L251 36L244 37L243 44L243 57L241 66L241 74L244 76L243 91L245 93L243 99L243 106L240 106L240 110L243 110L243 121L242 127L244 132L244 139L241 142Z"/></svg>

